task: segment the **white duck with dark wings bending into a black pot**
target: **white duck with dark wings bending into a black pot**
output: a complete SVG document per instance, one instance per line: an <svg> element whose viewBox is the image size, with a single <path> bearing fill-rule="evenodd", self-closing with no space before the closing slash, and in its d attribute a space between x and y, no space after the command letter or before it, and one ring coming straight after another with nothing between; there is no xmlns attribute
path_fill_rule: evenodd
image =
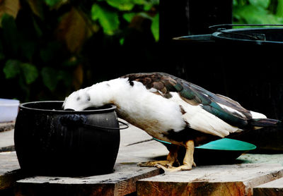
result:
<svg viewBox="0 0 283 196"><path fill-rule="evenodd" d="M82 111L107 104L117 107L119 118L171 143L166 160L140 165L165 171L191 170L196 166L193 155L198 145L281 123L245 109L229 97L158 72L131 73L98 82L69 94L63 108ZM178 161L180 147L185 147L183 164Z"/></svg>

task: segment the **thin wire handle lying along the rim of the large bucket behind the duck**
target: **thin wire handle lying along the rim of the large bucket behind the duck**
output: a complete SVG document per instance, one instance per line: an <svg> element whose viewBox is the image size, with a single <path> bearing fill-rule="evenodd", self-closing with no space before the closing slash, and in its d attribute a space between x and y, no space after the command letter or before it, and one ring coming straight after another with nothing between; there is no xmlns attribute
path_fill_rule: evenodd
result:
<svg viewBox="0 0 283 196"><path fill-rule="evenodd" d="M214 32L222 32L225 34L230 35L238 35L242 37L248 37L249 39L253 40L261 40L265 41L265 35L262 34L255 34L255 35L246 35L236 32L227 32L225 30L230 29L231 27L262 27L262 26L275 26L275 27L283 27L283 25L276 25L276 24L221 24L221 25L212 25L209 26L209 29L213 30Z"/></svg>

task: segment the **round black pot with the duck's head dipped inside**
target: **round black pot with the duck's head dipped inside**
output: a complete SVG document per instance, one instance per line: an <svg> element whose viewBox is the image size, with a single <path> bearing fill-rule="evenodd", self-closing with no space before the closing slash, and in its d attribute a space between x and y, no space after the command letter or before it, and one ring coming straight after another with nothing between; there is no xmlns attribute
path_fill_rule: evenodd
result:
<svg viewBox="0 0 283 196"><path fill-rule="evenodd" d="M14 142L21 169L40 176L111 173L120 145L115 106L64 111L62 104L20 105Z"/></svg>

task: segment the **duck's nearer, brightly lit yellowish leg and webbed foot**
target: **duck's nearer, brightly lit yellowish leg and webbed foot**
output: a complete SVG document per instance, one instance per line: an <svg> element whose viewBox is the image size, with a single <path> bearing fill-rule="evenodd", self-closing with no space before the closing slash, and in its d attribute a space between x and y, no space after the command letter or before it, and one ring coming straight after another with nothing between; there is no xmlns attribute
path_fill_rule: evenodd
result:
<svg viewBox="0 0 283 196"><path fill-rule="evenodd" d="M186 148L186 153L185 153L183 165L178 166L178 167L169 166L168 168L166 168L165 166L161 164L157 164L156 166L158 168L163 169L164 171L191 170L192 166L196 166L194 162L194 149L195 149L194 141L193 140L187 141L185 143L185 148Z"/></svg>

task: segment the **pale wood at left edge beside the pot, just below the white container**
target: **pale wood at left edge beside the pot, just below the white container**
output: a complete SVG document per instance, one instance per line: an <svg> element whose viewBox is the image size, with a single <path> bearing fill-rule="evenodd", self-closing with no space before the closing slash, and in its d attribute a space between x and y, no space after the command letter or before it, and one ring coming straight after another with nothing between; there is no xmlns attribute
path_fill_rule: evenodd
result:
<svg viewBox="0 0 283 196"><path fill-rule="evenodd" d="M14 151L13 129L0 132L0 152Z"/></svg>

